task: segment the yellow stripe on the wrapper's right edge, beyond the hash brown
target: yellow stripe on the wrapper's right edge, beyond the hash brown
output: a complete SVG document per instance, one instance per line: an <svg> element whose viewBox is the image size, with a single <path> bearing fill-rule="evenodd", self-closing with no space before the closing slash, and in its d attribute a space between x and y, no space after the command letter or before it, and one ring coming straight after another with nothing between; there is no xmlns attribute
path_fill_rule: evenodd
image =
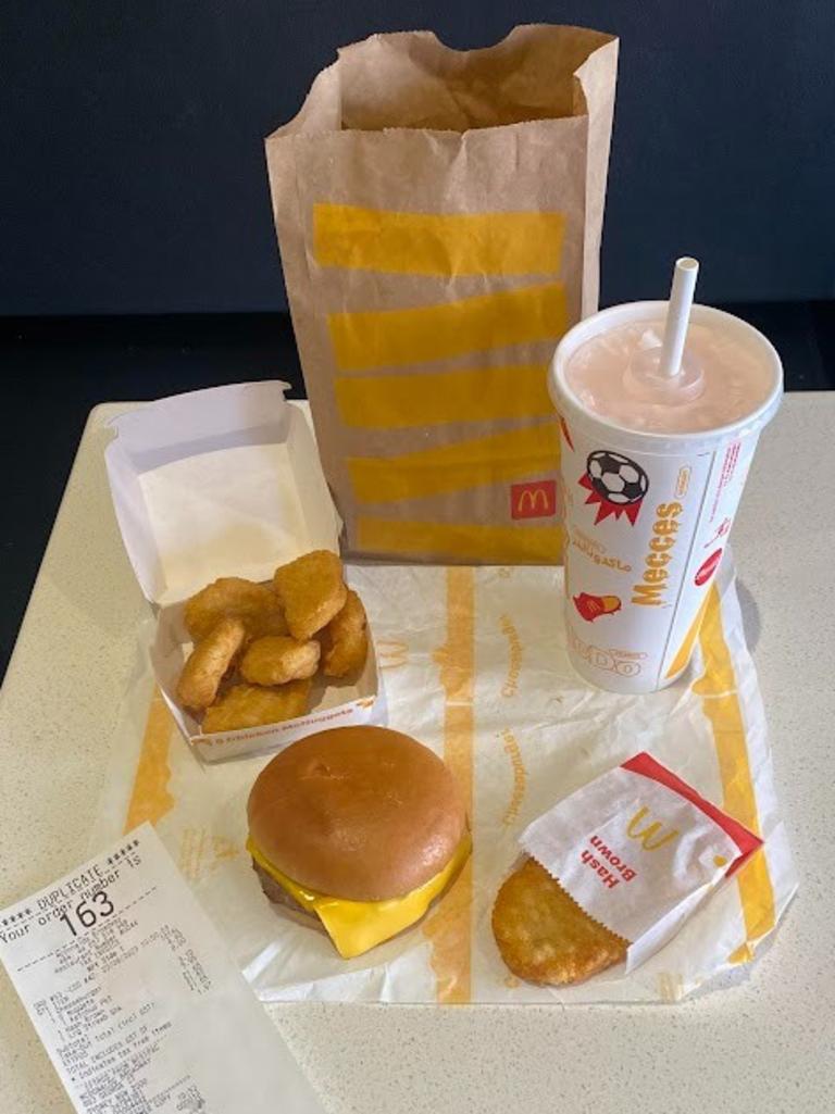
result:
<svg viewBox="0 0 835 1114"><path fill-rule="evenodd" d="M702 697L705 714L713 729L722 783L722 808L759 836L757 798L748 761L745 721L737 694L734 662L722 631L721 604L716 585L710 586L699 643L705 658L705 673L692 687ZM754 941L769 932L776 924L774 889L763 849L755 851L737 872L736 879L746 940L730 960L746 962L754 955Z"/></svg>

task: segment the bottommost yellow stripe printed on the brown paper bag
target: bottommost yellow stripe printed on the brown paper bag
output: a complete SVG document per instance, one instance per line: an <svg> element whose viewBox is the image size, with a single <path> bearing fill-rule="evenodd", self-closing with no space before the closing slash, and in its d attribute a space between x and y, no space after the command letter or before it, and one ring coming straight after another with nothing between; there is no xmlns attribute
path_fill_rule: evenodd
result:
<svg viewBox="0 0 835 1114"><path fill-rule="evenodd" d="M370 515L357 519L359 548L387 555L420 553L430 560L555 565L562 538L560 526L400 521Z"/></svg>

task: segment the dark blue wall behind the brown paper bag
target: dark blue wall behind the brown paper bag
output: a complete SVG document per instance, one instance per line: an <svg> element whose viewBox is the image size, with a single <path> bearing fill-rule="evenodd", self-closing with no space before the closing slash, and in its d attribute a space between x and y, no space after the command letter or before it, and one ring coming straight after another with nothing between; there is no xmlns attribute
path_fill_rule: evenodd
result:
<svg viewBox="0 0 835 1114"><path fill-rule="evenodd" d="M0 313L283 306L262 137L338 45L516 22L621 37L603 301L835 291L833 0L12 0L2 32ZM8 146L7 146L8 145Z"/></svg>

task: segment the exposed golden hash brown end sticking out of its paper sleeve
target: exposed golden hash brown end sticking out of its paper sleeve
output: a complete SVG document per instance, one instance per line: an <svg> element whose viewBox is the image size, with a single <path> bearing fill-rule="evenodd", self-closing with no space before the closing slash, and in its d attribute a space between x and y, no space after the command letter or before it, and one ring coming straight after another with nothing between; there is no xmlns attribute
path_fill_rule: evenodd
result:
<svg viewBox="0 0 835 1114"><path fill-rule="evenodd" d="M493 935L514 975L551 986L579 983L625 958L629 942L583 912L535 859L506 878Z"/></svg>

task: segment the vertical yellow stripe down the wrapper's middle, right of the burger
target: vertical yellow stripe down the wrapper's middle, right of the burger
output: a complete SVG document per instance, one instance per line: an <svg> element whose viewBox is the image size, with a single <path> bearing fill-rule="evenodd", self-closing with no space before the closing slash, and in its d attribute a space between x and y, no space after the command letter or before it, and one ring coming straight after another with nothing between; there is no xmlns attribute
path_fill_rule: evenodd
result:
<svg viewBox="0 0 835 1114"><path fill-rule="evenodd" d="M473 823L473 741L475 719L475 579L472 568L449 568L446 643L433 655L444 690L444 761L458 782ZM470 1000L473 856L452 889L424 924L433 946L437 1000Z"/></svg>

